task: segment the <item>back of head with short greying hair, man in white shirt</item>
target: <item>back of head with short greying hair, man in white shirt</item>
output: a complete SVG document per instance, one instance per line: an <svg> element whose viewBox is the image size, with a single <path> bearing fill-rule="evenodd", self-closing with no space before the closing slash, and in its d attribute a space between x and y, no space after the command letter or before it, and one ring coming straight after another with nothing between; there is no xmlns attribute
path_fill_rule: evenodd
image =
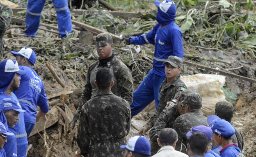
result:
<svg viewBox="0 0 256 157"><path fill-rule="evenodd" d="M172 128L164 128L159 133L159 142L162 146L171 146L177 139L178 134Z"/></svg>

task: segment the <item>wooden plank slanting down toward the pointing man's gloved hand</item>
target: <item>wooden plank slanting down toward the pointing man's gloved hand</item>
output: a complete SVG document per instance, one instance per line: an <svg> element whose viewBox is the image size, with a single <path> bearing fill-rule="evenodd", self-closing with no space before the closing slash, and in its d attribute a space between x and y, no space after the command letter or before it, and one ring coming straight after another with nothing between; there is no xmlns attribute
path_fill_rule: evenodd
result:
<svg viewBox="0 0 256 157"><path fill-rule="evenodd" d="M84 24L82 22L78 22L78 21L75 21L75 20L72 20L72 24L75 24L78 27L81 27L83 29L86 29L86 30L92 31L92 32L96 32L96 33L103 33L103 32L105 32L105 31L103 31L101 29L98 29L96 27L92 27L92 26L90 26L88 24ZM119 41L119 40L122 39L121 37L119 37L119 36L117 36L115 34L110 33L110 35L112 36L113 40L115 40L115 41Z"/></svg>

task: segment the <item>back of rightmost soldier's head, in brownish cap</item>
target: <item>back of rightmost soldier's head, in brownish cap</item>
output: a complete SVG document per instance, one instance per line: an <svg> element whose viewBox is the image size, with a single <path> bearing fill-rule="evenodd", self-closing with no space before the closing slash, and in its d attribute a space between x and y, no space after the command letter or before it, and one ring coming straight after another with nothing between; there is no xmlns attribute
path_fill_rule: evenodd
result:
<svg viewBox="0 0 256 157"><path fill-rule="evenodd" d="M233 118L233 110L233 105L226 101L217 102L215 105L215 114L228 122L231 122Z"/></svg>

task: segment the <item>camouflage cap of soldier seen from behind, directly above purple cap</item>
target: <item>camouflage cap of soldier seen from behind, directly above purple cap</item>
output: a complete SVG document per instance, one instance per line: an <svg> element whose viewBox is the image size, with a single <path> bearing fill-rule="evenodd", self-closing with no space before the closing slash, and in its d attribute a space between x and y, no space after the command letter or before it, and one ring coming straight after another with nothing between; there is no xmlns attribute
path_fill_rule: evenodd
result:
<svg viewBox="0 0 256 157"><path fill-rule="evenodd" d="M202 97L200 94L196 92L190 92L185 97L184 100L181 102L183 106L185 104L190 106L201 106L202 105Z"/></svg>

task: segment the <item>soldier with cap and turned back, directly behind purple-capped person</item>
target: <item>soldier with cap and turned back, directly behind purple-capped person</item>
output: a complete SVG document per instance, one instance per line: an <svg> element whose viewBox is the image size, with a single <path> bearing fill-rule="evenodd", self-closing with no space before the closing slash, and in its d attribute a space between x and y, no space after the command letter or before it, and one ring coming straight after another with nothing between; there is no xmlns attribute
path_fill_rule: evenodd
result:
<svg viewBox="0 0 256 157"><path fill-rule="evenodd" d="M175 149L187 153L186 149L181 148L181 143L184 144L183 146L187 146L187 132L193 126L208 126L208 124L207 118L200 112L202 107L201 95L195 92L188 93L181 102L181 106L185 108L187 113L179 116L173 124L173 129L178 133L178 142Z"/></svg>

